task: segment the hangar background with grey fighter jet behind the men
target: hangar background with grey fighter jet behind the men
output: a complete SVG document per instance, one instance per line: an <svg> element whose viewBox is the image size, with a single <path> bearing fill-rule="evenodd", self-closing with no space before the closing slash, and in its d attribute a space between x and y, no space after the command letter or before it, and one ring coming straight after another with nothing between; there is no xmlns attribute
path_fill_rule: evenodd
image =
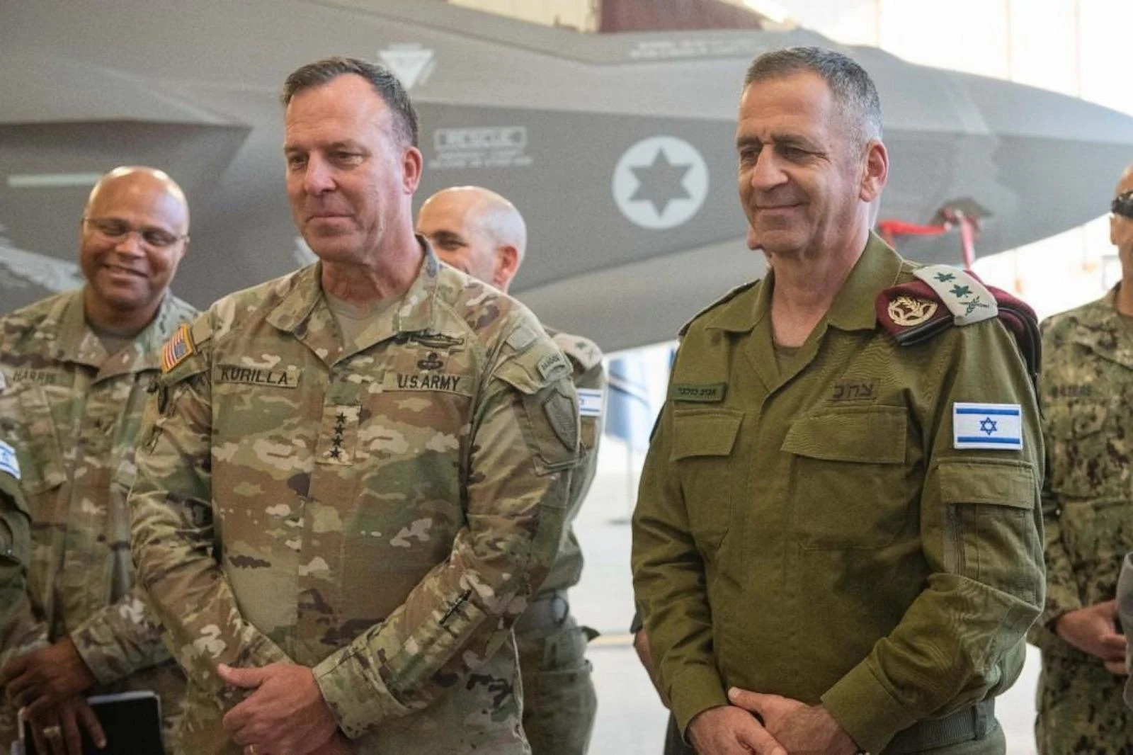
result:
<svg viewBox="0 0 1133 755"><path fill-rule="evenodd" d="M1130 29L1128 0L0 0L0 315L83 286L82 207L117 166L185 189L171 290L198 308L315 262L284 190L280 86L327 56L384 65L418 111L414 212L451 186L509 198L528 239L509 294L605 355L569 593L595 630L589 753L659 754L668 712L630 634L631 516L678 330L767 273L735 189L748 65L794 45L859 62L889 158L875 229L1045 319L1122 280ZM1028 645L996 705L1007 753L1039 752L1039 664Z"/></svg>

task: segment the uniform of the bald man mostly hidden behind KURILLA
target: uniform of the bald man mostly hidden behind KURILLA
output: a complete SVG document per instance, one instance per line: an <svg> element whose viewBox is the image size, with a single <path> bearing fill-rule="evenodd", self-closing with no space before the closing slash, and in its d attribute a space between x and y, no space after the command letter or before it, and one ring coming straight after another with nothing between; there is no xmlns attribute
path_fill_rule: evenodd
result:
<svg viewBox="0 0 1133 755"><path fill-rule="evenodd" d="M605 395L602 351L585 338L547 328L555 346L570 359L580 396ZM600 400L600 398L598 399ZM568 524L578 516L598 467L602 414L580 418L581 460L571 475ZM523 678L523 731L535 755L580 755L590 744L598 698L586 660L586 644L596 633L580 627L570 614L566 591L582 576L582 549L572 527L563 531L551 575L516 622L519 668Z"/></svg>

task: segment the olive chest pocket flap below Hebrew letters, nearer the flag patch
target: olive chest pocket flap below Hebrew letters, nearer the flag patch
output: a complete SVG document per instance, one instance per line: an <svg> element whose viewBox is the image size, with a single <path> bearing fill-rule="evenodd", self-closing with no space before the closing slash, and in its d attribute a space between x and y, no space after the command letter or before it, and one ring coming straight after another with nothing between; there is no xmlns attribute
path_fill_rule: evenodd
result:
<svg viewBox="0 0 1133 755"><path fill-rule="evenodd" d="M811 459L904 464L906 423L901 406L846 407L800 417L782 449Z"/></svg>

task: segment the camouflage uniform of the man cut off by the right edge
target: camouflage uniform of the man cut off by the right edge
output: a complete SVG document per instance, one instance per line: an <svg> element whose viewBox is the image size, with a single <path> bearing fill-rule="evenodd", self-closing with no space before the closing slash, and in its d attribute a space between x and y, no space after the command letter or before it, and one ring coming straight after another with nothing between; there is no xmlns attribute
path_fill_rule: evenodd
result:
<svg viewBox="0 0 1133 755"><path fill-rule="evenodd" d="M1133 549L1133 332L1115 296L1042 323L1047 600L1030 639L1042 651L1036 738L1050 755L1133 753L1125 679L1050 630L1067 611L1113 600Z"/></svg>

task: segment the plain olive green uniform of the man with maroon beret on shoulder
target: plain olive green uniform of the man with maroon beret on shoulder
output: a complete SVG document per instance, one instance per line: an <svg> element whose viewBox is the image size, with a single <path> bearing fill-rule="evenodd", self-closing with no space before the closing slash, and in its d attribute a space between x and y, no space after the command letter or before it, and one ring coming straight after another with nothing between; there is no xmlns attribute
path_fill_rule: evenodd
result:
<svg viewBox="0 0 1133 755"><path fill-rule="evenodd" d="M774 273L684 334L632 561L685 736L736 686L821 703L872 753L1003 752L981 701L1042 603L1034 390L995 319L910 346L879 328L913 268L871 237L780 365ZM954 402L1017 405L1022 449L955 448Z"/></svg>

